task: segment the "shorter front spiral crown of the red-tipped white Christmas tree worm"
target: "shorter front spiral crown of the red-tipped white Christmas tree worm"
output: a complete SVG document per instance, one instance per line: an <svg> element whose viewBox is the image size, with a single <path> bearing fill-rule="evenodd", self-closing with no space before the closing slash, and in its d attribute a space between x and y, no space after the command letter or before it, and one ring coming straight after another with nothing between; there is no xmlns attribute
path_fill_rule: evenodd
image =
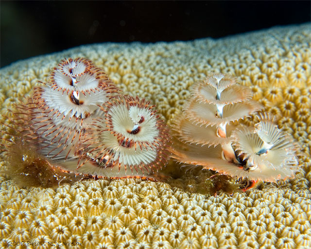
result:
<svg viewBox="0 0 311 249"><path fill-rule="evenodd" d="M98 176L155 174L167 161L168 128L150 102L131 96L109 100L86 130L77 172Z"/></svg>

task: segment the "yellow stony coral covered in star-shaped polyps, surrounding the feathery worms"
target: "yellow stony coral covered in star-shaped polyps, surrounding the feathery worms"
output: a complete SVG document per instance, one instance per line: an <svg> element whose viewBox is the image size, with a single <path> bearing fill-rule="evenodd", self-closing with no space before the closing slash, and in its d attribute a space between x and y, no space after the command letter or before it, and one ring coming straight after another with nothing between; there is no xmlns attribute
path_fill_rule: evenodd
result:
<svg viewBox="0 0 311 249"><path fill-rule="evenodd" d="M2 68L0 110L6 124L17 100L38 80L46 82L64 57L92 60L125 93L151 100L168 125L194 82L213 72L232 74L251 87L253 99L276 116L305 156L294 179L232 196L201 194L208 173L183 169L169 183L89 179L19 188L0 161L0 248L310 248L310 41L307 23L221 39L86 45Z"/></svg>

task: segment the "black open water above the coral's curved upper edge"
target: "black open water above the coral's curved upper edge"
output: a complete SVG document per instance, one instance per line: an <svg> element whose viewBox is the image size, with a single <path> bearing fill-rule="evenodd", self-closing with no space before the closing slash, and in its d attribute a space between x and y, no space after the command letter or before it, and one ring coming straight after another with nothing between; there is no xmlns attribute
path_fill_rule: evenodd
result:
<svg viewBox="0 0 311 249"><path fill-rule="evenodd" d="M0 1L0 67L98 42L223 37L311 21L311 1Z"/></svg>

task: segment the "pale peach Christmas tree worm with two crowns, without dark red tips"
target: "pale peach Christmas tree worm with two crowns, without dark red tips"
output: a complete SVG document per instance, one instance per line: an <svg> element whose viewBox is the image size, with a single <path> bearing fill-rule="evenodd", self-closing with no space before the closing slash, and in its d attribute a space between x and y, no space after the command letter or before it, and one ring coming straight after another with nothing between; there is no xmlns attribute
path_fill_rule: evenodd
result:
<svg viewBox="0 0 311 249"><path fill-rule="evenodd" d="M293 178L298 144L268 115L255 113L261 106L251 97L250 89L223 74L194 84L173 127L179 140L173 158L252 183ZM251 114L259 120L254 127L234 125Z"/></svg>

